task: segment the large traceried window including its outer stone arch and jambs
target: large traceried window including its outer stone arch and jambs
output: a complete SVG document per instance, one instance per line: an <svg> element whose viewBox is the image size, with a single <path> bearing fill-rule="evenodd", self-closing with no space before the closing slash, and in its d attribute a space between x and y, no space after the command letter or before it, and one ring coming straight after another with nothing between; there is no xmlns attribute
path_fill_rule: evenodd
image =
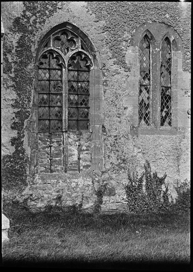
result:
<svg viewBox="0 0 193 272"><path fill-rule="evenodd" d="M103 161L103 115L97 104L102 103L102 86L88 37L68 22L51 28L37 48L35 78L31 175L98 172Z"/></svg>

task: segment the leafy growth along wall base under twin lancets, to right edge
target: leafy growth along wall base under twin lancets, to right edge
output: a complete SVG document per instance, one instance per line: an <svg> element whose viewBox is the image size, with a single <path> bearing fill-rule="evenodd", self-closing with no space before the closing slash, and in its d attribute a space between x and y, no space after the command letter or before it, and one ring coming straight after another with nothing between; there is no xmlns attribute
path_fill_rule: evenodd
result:
<svg viewBox="0 0 193 272"><path fill-rule="evenodd" d="M177 198L170 202L168 184L165 184L166 173L159 178L157 172L152 174L150 163L146 160L145 171L138 178L138 173L131 173L128 169L128 183L125 192L128 201L128 212L183 212L190 210L190 186L187 182L177 184L175 189ZM163 190L163 186L165 190ZM145 189L144 189L145 188Z"/></svg>

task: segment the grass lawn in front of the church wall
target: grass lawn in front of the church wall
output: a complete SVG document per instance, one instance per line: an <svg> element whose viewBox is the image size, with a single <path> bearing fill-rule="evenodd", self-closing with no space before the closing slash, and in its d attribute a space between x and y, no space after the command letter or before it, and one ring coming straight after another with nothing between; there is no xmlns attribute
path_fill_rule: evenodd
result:
<svg viewBox="0 0 193 272"><path fill-rule="evenodd" d="M3 266L190 271L190 215L32 214L3 207L10 220Z"/></svg>

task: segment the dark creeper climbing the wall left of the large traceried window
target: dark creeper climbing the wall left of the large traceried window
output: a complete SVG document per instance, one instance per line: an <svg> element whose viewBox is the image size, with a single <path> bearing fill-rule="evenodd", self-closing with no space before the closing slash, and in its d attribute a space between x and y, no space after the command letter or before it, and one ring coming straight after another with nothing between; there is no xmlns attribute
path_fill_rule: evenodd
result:
<svg viewBox="0 0 193 272"><path fill-rule="evenodd" d="M11 105L15 113L11 129L17 131L17 136L11 139L11 145L15 147L15 151L2 158L2 187L5 190L22 188L27 183L29 158L24 148L24 129L31 114L34 88L33 60L35 52L33 48L36 46L34 37L44 26L46 19L53 15L58 8L58 3L55 1L24 1L23 5L23 12L13 20L10 30L19 37L15 51L12 50L10 53L10 46L13 45L10 42L9 46L8 41L4 43L3 48L3 71L9 74L12 88L17 96ZM8 36L5 39L8 39ZM6 57L7 52L11 60Z"/></svg>

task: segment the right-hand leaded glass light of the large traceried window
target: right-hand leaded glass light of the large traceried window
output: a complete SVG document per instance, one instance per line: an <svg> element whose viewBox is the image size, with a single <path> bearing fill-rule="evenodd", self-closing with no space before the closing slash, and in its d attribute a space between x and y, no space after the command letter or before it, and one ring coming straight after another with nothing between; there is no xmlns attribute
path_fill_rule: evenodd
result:
<svg viewBox="0 0 193 272"><path fill-rule="evenodd" d="M89 70L84 54L73 55L68 64L68 129L89 128Z"/></svg>

